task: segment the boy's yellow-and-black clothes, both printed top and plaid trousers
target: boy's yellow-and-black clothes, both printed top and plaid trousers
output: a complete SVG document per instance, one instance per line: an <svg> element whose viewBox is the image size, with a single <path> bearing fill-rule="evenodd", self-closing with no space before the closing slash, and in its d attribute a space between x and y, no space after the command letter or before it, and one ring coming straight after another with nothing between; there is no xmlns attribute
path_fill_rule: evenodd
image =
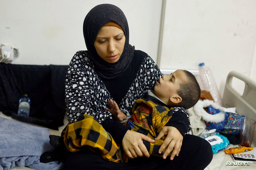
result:
<svg viewBox="0 0 256 170"><path fill-rule="evenodd" d="M172 118L173 108L156 104L151 100L138 99L132 109L132 117L125 123L131 130L145 134L154 139L166 123ZM119 145L105 131L93 116L84 114L84 119L68 124L61 136L71 152L91 150L109 161L120 162ZM151 155L158 155L164 138L154 143L143 141Z"/></svg>

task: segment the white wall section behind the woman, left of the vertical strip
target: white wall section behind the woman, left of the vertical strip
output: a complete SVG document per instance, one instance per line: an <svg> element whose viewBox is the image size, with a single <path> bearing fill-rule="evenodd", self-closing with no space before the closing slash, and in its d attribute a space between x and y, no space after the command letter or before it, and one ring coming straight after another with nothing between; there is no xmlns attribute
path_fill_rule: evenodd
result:
<svg viewBox="0 0 256 170"><path fill-rule="evenodd" d="M86 49L86 14L103 3L123 10L130 44L156 60L161 1L155 0L0 0L0 44L19 48L13 64L68 65L77 51Z"/></svg>

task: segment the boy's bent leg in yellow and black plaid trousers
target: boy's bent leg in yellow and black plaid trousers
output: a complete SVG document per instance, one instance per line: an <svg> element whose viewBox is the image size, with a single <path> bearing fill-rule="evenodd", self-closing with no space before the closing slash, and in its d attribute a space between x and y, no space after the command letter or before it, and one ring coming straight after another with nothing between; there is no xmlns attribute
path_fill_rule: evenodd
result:
<svg viewBox="0 0 256 170"><path fill-rule="evenodd" d="M91 150L109 161L121 160L118 155L119 146L91 115L84 114L82 121L68 124L61 136L64 137L64 143L71 152Z"/></svg>

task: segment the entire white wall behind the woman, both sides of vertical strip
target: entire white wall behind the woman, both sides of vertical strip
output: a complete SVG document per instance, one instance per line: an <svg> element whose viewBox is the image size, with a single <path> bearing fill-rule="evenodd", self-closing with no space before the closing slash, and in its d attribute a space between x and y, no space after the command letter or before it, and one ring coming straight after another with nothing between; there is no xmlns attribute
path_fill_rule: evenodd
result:
<svg viewBox="0 0 256 170"><path fill-rule="evenodd" d="M85 50L82 25L102 3L127 16L130 43L157 60L161 0L0 0L0 43L19 48L14 64L68 65ZM161 69L205 62L223 94L231 70L256 80L256 0L166 0Z"/></svg>

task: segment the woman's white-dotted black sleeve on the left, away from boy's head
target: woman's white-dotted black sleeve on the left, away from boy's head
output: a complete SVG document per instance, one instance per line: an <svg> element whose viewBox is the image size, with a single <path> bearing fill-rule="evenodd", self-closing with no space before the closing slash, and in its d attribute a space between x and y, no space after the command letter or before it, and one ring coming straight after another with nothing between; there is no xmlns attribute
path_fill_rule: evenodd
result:
<svg viewBox="0 0 256 170"><path fill-rule="evenodd" d="M72 58L65 83L65 102L69 123L74 123L83 114L92 115L101 123L113 116L105 108L110 94L97 76L85 51Z"/></svg>

